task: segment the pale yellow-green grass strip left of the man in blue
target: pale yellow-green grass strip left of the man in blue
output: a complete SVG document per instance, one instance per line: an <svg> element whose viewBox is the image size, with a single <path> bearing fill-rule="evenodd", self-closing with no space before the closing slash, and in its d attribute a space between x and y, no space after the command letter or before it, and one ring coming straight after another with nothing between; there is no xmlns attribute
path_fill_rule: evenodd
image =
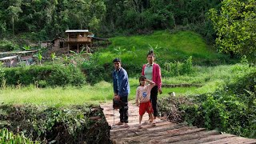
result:
<svg viewBox="0 0 256 144"><path fill-rule="evenodd" d="M37 105L78 105L85 102L98 104L112 98L112 91L108 82L100 82L95 86L48 87L45 89L27 86L21 89L7 88L2 90L0 102L34 103Z"/></svg>

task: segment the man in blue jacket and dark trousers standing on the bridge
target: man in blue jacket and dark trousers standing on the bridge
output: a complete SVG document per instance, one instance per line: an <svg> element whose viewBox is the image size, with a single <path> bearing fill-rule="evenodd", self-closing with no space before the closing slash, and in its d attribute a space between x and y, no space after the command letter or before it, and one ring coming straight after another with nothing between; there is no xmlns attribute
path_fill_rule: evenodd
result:
<svg viewBox="0 0 256 144"><path fill-rule="evenodd" d="M114 87L114 97L120 98L122 101L122 107L119 109L120 122L117 123L118 126L125 125L128 126L128 94L130 93L130 86L128 82L128 74L121 66L121 60L119 58L114 58L114 71L112 73L113 77L113 87Z"/></svg>

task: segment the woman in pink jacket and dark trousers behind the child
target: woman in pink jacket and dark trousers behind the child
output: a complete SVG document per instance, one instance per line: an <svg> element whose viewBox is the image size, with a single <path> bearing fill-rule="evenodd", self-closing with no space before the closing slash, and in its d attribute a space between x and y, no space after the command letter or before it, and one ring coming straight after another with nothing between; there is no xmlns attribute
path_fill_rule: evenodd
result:
<svg viewBox="0 0 256 144"><path fill-rule="evenodd" d="M160 66L157 63L154 63L154 59L154 52L153 50L150 50L146 58L148 63L142 66L142 75L155 83L155 86L150 91L150 101L154 110L153 115L155 121L158 116L158 92L159 94L162 94L162 80Z"/></svg>

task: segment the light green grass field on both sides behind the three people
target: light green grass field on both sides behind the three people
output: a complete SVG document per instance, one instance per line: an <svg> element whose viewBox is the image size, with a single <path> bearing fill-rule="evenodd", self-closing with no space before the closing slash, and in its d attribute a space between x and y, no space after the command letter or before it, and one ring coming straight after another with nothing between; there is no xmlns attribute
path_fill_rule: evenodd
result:
<svg viewBox="0 0 256 144"><path fill-rule="evenodd" d="M163 94L159 97L166 97L170 92L179 95L189 94L206 94L225 86L226 82L233 82L235 78L241 78L248 74L253 67L247 65L227 65L227 66L197 66L195 73L173 78L163 78L163 84L200 84L201 87L163 87ZM135 91L138 86L138 78L130 78L130 96L129 99L135 98ZM35 88L35 86L26 86L18 88L7 87L0 91L0 102L4 103L34 103L37 105L76 105L82 103L94 103L111 101L113 98L113 87L110 82L99 82L94 86L84 85L82 87L66 86L47 87L44 89Z"/></svg>

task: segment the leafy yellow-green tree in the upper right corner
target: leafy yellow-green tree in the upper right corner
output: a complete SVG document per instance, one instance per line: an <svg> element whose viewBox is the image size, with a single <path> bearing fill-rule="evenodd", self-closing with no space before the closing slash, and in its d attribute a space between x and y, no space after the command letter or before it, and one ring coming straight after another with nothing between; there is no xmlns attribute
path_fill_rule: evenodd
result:
<svg viewBox="0 0 256 144"><path fill-rule="evenodd" d="M256 63L256 1L224 0L220 13L210 9L210 19L217 32L218 49L225 53L246 55Z"/></svg>

